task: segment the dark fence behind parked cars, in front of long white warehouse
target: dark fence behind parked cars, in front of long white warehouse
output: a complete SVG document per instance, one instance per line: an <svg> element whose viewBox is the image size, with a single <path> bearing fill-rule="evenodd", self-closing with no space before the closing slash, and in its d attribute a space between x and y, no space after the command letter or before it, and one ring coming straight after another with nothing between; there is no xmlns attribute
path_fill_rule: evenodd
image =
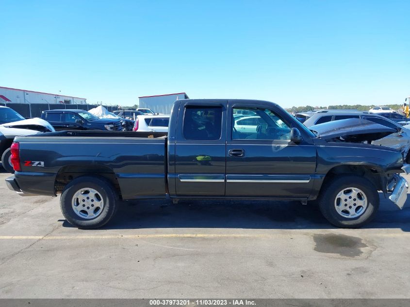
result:
<svg viewBox="0 0 410 307"><path fill-rule="evenodd" d="M9 107L17 113L21 114L25 118L30 117L41 117L41 112L47 110L57 110L57 109L80 109L88 111L90 109L98 107L95 104L52 104L52 103L0 103L1 106ZM113 106L103 106L109 112L118 110L117 107Z"/></svg>

